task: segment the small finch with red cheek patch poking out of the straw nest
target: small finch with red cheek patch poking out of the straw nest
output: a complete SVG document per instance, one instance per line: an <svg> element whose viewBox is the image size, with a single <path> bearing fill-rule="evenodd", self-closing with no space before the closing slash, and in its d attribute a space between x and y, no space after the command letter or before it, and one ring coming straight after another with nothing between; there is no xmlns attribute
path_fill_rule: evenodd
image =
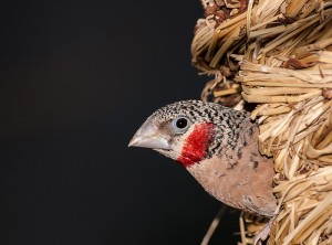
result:
<svg viewBox="0 0 332 245"><path fill-rule="evenodd" d="M216 103L181 100L153 113L129 141L179 162L214 198L273 217L273 160L258 149L250 113Z"/></svg>

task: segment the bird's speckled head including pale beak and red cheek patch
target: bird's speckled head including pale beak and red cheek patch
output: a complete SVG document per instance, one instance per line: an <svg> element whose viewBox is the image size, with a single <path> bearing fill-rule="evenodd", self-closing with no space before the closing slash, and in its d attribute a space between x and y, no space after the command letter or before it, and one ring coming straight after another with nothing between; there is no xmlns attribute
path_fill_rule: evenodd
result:
<svg viewBox="0 0 332 245"><path fill-rule="evenodd" d="M149 116L128 146L152 148L190 167L209 158L211 148L227 142L234 134L231 127L246 117L234 111L200 100L174 103Z"/></svg>

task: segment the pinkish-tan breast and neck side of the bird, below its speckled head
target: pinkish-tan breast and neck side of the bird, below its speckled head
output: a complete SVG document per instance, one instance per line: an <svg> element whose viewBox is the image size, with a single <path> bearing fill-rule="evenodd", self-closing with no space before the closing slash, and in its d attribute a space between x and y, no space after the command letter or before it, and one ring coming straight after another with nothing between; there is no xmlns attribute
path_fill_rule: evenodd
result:
<svg viewBox="0 0 332 245"><path fill-rule="evenodd" d="M235 149L224 147L211 158L191 164L187 170L219 201L236 209L272 216L276 209L273 161L258 151L257 127L252 128L251 135L238 139L241 146Z"/></svg>

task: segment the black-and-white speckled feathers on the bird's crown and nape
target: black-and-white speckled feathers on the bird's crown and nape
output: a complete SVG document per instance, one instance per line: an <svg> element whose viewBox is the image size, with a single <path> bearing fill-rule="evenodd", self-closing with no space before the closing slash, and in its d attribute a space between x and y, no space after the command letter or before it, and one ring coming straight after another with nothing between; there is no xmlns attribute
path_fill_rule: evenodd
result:
<svg viewBox="0 0 332 245"><path fill-rule="evenodd" d="M251 135L257 127L250 120L250 114L243 110L235 110L215 103L204 103L201 100L181 100L156 110L152 117L157 124L165 124L173 120L177 116L186 116L193 118L195 124L212 122L220 129L215 137L214 143L209 147L209 158L217 153L222 153L225 148L221 143L226 143L235 151L247 145L245 135ZM227 141L226 141L227 139Z"/></svg>

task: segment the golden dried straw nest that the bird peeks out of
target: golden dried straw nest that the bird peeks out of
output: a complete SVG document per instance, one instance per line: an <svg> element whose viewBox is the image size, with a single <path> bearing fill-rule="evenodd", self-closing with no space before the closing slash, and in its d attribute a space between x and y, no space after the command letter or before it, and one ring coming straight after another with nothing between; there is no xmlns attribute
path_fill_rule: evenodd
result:
<svg viewBox="0 0 332 245"><path fill-rule="evenodd" d="M203 0L193 63L203 90L257 105L260 152L273 157L270 244L332 244L332 1ZM251 244L247 224L240 244Z"/></svg>

